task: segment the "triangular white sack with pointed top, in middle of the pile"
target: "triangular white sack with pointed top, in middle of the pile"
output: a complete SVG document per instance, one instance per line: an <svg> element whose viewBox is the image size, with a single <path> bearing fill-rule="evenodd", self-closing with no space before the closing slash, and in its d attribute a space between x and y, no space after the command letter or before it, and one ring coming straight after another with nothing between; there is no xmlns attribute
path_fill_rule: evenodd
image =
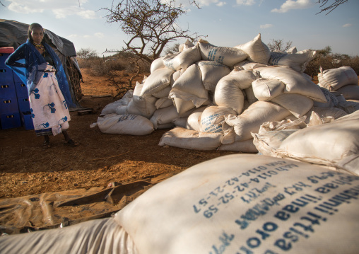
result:
<svg viewBox="0 0 359 254"><path fill-rule="evenodd" d="M208 91L204 88L201 70L196 64L188 67L175 81L169 98L192 100L196 108L199 108L208 100Z"/></svg>

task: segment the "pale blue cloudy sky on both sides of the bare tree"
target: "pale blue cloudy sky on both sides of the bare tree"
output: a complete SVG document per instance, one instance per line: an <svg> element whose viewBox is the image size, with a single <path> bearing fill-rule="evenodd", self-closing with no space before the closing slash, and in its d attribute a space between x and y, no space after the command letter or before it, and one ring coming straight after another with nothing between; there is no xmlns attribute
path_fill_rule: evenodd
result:
<svg viewBox="0 0 359 254"><path fill-rule="evenodd" d="M112 0L0 0L0 18L40 23L71 40L76 50L90 48L99 55L120 50L126 35L116 23L106 22ZM188 4L188 0L182 1ZM333 0L331 0L333 1ZM117 3L114 0L114 3ZM316 0L199 0L201 9L187 6L179 25L206 35L213 45L233 47L258 33L264 43L283 39L298 50L321 50L359 55L359 1L349 0L325 15ZM178 41L183 43L184 40Z"/></svg>

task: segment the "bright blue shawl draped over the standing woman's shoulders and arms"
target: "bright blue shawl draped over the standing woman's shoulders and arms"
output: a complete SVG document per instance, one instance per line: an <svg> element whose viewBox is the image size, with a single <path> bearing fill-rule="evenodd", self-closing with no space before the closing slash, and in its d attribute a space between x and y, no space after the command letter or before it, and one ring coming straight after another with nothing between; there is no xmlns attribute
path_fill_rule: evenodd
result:
<svg viewBox="0 0 359 254"><path fill-rule="evenodd" d="M76 108L71 98L69 83L67 82L61 60L47 43L43 43L43 45L54 61L54 67L57 69L57 82L59 83L59 88L64 95L67 105L69 108ZM36 88L37 81L40 79L40 76L43 75L42 71L47 66L45 58L36 50L29 39L6 59L5 64L26 84L29 94Z"/></svg>

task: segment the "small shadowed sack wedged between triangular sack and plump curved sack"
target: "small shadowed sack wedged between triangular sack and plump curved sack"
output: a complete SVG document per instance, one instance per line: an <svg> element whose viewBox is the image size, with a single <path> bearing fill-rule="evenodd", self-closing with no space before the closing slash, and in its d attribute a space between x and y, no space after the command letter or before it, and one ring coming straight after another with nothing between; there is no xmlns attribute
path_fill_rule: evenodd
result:
<svg viewBox="0 0 359 254"><path fill-rule="evenodd" d="M202 81L206 90L214 93L217 83L223 76L230 74L230 69L219 62L201 61L198 63L202 74Z"/></svg>

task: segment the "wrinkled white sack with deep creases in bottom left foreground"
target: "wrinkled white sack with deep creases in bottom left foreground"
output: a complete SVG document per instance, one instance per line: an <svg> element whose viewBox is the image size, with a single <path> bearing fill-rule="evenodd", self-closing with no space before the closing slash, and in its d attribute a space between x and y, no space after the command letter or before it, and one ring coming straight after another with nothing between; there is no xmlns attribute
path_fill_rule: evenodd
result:
<svg viewBox="0 0 359 254"><path fill-rule="evenodd" d="M131 236L115 219L95 219L64 229L0 237L0 253L139 254Z"/></svg>

